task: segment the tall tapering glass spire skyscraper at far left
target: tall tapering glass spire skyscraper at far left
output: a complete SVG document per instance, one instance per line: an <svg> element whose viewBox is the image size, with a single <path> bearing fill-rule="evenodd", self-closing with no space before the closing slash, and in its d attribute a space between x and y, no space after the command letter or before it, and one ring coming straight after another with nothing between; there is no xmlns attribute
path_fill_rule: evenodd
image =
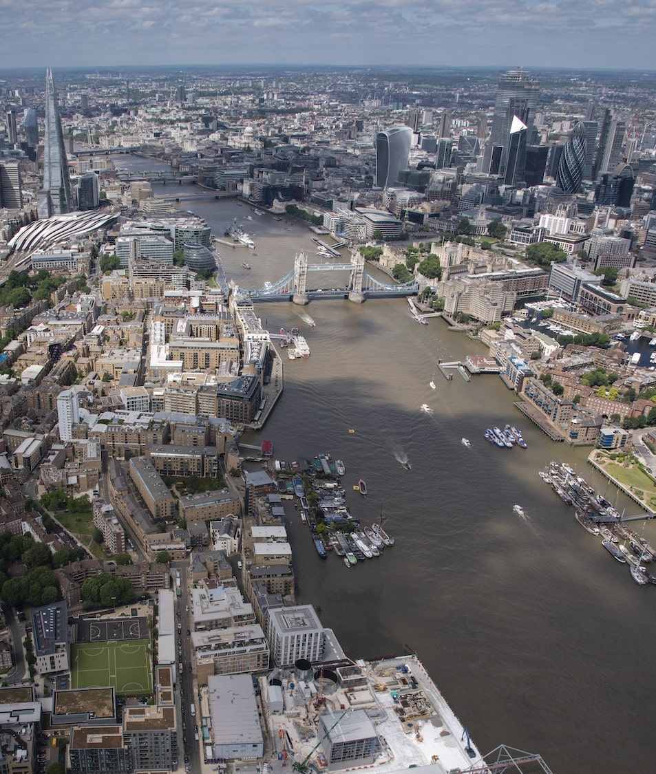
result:
<svg viewBox="0 0 656 774"><path fill-rule="evenodd" d="M43 138L43 190L49 199L50 214L70 212L73 195L70 190L68 159L64 149L57 92L50 67L46 73L46 129ZM40 213L39 213L40 214Z"/></svg>

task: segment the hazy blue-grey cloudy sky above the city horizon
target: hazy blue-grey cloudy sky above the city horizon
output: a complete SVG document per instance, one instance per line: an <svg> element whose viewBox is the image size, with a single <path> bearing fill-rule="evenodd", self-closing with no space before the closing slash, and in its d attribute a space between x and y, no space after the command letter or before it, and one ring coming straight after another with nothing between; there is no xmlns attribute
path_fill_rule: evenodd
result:
<svg viewBox="0 0 656 774"><path fill-rule="evenodd" d="M3 67L656 69L656 0L0 0Z"/></svg>

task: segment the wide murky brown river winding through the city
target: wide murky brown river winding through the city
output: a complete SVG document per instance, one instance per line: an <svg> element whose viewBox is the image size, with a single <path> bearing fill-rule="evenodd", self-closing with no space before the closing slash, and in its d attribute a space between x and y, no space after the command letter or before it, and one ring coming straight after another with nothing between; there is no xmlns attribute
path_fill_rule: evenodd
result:
<svg viewBox="0 0 656 774"><path fill-rule="evenodd" d="M167 168L129 156L114 161L125 170ZM300 250L310 262L326 261L297 221L273 221L234 200L194 201L201 190L191 185L153 188L157 197L183 199L175 206L204 217L219 238L235 217L249 231L255 250L218 245L239 286L280 279ZM310 274L315 287L346 279ZM586 464L589 448L552 444L513 408L498 376L465 382L456 372L445 380L438 359L486 349L442 320L418 325L404 299L258 303L256 313L272 332L299 327L311 357L284 358L283 396L263 433L244 440L272 440L280 460L341 458L352 514L370 524L382 511L397 541L347 570L337 557L319 559L287 505L298 601L321 608L321 621L352 658L401 654L405 646L417 652L483 754L506 743L539 752L560 774L653 770L656 588L638 587L538 477L562 459L620 511L637 512ZM483 438L487 427L506 423L522 430L527 450ZM406 458L410 470L400 464ZM352 492L359 478L367 498ZM654 527L644 529L652 542Z"/></svg>

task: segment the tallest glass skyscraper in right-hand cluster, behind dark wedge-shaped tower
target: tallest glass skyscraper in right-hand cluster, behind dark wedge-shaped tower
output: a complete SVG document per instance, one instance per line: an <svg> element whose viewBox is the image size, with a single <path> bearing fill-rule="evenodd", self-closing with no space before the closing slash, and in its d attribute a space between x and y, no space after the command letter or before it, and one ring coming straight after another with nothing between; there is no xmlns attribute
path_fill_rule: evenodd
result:
<svg viewBox="0 0 656 774"><path fill-rule="evenodd" d="M540 82L524 70L509 70L499 79L492 128L483 153L483 171L493 175L499 174L508 180L508 157L512 145L512 166L515 178L512 183L507 183L509 185L516 185L524 180L527 136L535 122L539 92ZM515 118L524 125L524 129L520 130L520 132L524 132L523 135L521 133L517 135L517 132L513 132L513 126L516 130L518 126ZM513 132L513 137L510 136L511 132ZM524 142L524 151L517 155L522 141Z"/></svg>

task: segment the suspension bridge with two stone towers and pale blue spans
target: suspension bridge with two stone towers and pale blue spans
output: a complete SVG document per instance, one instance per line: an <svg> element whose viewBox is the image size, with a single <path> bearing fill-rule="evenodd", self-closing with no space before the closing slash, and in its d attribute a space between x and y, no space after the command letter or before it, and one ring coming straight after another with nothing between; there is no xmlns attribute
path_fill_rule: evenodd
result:
<svg viewBox="0 0 656 774"><path fill-rule="evenodd" d="M294 269L275 283L266 283L255 290L239 290L252 301L294 301L301 306L322 298L345 298L362 303L367 298L416 296L419 291L419 284L414 279L409 283L388 285L367 274L364 267L365 259L359 252L352 253L349 263L308 263L307 256L300 252L294 259ZM307 283L308 272L349 272L349 279L341 287L311 289Z"/></svg>

